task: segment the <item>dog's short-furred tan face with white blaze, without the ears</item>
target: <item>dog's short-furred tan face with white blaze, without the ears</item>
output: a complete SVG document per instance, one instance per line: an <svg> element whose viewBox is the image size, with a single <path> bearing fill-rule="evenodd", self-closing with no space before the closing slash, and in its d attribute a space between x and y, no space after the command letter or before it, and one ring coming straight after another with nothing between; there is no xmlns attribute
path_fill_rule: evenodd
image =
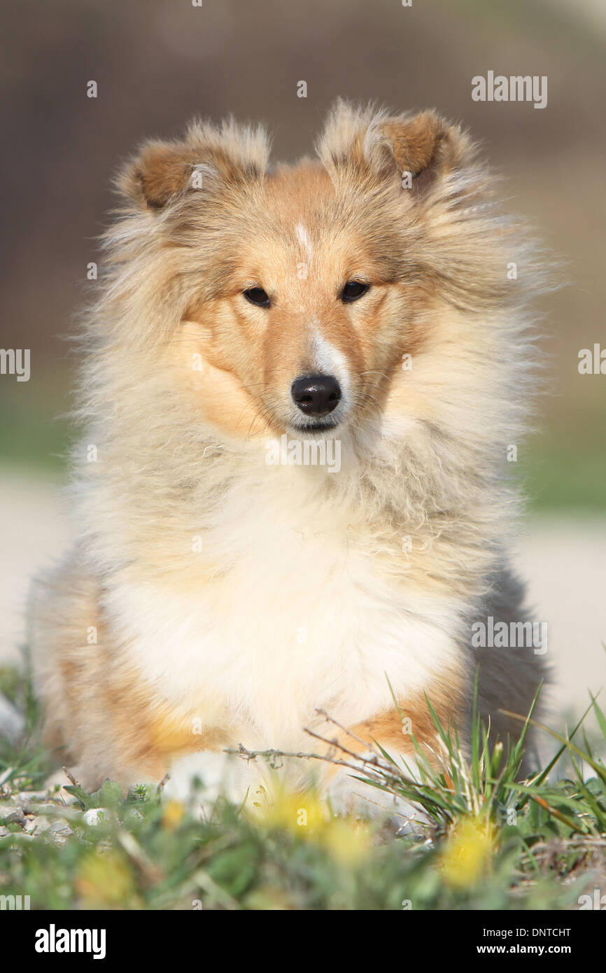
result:
<svg viewBox="0 0 606 973"><path fill-rule="evenodd" d="M389 201L376 237L376 204L369 212L361 190L345 195L325 169L302 165L268 175L232 217L230 272L188 316L210 333L206 359L241 387L249 426L259 416L282 432L330 434L378 405L410 316L389 260Z"/></svg>

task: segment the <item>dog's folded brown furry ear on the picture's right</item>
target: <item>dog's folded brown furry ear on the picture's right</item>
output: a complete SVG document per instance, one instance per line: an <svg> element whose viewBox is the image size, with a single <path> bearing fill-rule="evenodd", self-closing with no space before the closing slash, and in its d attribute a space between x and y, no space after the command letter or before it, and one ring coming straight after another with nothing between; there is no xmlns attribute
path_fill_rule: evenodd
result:
<svg viewBox="0 0 606 973"><path fill-rule="evenodd" d="M335 173L385 178L398 172L403 186L408 180L408 188L424 194L440 177L467 164L473 147L459 126L449 125L437 112L388 116L339 101L318 153Z"/></svg>

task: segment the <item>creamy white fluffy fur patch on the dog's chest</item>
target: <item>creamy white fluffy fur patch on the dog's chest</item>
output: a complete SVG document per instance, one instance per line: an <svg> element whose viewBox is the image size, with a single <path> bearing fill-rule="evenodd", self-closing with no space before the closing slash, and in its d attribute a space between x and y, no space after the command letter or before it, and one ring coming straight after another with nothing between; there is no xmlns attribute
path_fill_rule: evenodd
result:
<svg viewBox="0 0 606 973"><path fill-rule="evenodd" d="M251 482L206 520L217 580L186 595L133 577L104 602L161 697L199 704L203 721L227 711L251 746L297 746L316 707L370 718L392 707L389 683L406 698L456 652L451 606L382 578L372 543L351 541L351 512L301 473Z"/></svg>

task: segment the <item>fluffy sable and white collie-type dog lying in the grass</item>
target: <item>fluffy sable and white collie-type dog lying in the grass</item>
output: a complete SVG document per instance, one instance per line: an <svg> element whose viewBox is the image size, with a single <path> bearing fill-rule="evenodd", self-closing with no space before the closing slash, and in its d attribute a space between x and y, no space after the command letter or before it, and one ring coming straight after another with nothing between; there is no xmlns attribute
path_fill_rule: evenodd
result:
<svg viewBox="0 0 606 973"><path fill-rule="evenodd" d="M541 269L468 137L339 102L317 160L269 167L262 129L195 124L119 188L78 539L32 611L49 743L88 786L196 775L239 801L263 764L225 751L313 749L318 708L413 762L402 715L434 750L427 695L465 739L478 664L492 734L517 736L500 710L528 711L541 655L471 632L526 620L507 453ZM318 766L337 807L364 790Z"/></svg>

